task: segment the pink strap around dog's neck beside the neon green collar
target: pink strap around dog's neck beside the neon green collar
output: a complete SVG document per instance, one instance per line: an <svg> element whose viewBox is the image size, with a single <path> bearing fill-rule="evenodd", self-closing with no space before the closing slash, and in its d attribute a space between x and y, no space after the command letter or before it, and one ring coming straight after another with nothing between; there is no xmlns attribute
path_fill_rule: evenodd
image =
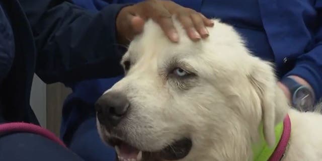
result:
<svg viewBox="0 0 322 161"><path fill-rule="evenodd" d="M283 133L282 133L281 139L278 142L278 145L275 151L273 152L273 154L271 155L269 161L279 161L282 159L285 153L288 141L291 136L291 120L288 115L286 115L283 125L284 127L283 127Z"/></svg>

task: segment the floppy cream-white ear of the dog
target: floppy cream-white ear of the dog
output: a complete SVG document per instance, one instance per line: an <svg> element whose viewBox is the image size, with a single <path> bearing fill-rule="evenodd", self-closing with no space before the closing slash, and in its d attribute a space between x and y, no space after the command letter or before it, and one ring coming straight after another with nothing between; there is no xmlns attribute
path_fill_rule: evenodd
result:
<svg viewBox="0 0 322 161"><path fill-rule="evenodd" d="M272 64L264 61L255 61L249 79L256 94L260 98L262 108L262 123L265 140L269 146L275 144L275 117L276 117L276 76Z"/></svg>

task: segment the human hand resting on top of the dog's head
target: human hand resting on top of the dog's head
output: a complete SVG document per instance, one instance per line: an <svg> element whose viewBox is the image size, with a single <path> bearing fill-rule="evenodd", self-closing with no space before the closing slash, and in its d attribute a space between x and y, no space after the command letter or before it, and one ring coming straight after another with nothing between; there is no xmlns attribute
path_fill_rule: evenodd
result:
<svg viewBox="0 0 322 161"><path fill-rule="evenodd" d="M178 42L179 36L174 28L173 15L193 41L208 37L209 33L205 26L214 25L202 14L172 1L147 0L121 9L116 18L117 39L121 44L129 43L135 35L142 32L145 20L152 19L160 25L171 41Z"/></svg>

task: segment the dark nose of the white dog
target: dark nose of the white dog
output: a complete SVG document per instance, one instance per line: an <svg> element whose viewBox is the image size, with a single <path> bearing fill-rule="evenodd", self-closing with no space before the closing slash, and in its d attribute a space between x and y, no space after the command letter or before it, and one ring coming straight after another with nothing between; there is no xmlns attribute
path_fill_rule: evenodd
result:
<svg viewBox="0 0 322 161"><path fill-rule="evenodd" d="M101 124L116 126L129 108L127 98L118 92L108 92L101 96L96 104L97 117Z"/></svg>

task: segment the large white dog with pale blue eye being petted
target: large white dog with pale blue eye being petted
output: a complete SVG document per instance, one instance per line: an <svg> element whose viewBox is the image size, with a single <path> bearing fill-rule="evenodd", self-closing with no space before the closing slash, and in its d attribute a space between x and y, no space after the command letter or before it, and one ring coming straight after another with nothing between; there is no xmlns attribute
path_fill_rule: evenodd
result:
<svg viewBox="0 0 322 161"><path fill-rule="evenodd" d="M121 161L322 160L322 116L291 109L272 65L214 21L199 42L175 21L179 43L146 23L97 102L102 139Z"/></svg>

